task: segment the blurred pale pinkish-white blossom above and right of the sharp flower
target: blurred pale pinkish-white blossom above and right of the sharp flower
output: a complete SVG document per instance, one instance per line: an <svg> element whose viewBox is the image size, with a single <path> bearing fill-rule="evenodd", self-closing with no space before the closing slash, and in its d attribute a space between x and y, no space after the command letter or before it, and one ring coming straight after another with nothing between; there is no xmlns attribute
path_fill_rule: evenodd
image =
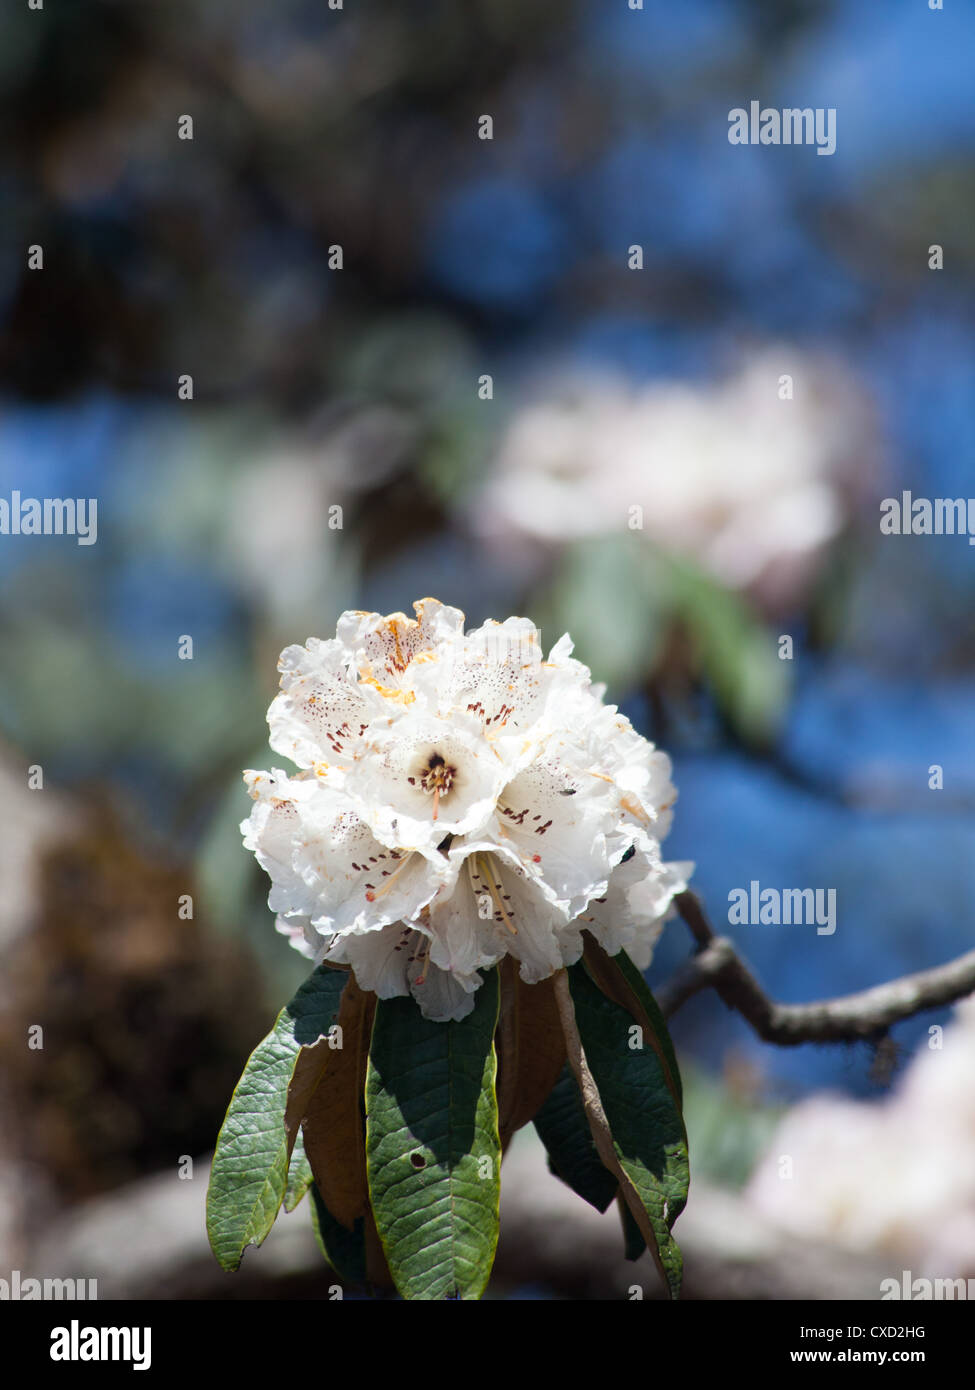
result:
<svg viewBox="0 0 975 1390"><path fill-rule="evenodd" d="M708 385L579 374L515 416L472 524L529 563L529 541L641 530L775 609L801 595L875 456L853 375L791 348L752 353Z"/></svg>

